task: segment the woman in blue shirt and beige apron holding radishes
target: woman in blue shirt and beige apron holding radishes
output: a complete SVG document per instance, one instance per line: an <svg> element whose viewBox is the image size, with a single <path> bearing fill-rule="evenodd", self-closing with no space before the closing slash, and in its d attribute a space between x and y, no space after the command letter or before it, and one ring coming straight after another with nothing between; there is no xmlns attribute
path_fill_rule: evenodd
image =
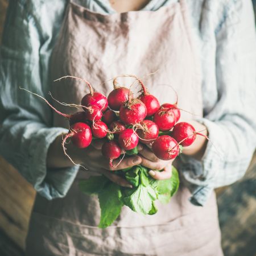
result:
<svg viewBox="0 0 256 256"><path fill-rule="evenodd" d="M222 255L213 189L242 177L254 150L255 42L249 0L10 2L1 48L0 154L38 192L27 254ZM19 86L79 103L84 85L51 81L84 77L107 94L112 88L102 82L122 73L147 76L162 103L172 90L160 84L171 84L180 108L197 114L191 122L207 129L213 143L197 137L184 149L177 163L183 185L170 204L154 216L124 208L101 230L97 200L79 192L79 179L100 172L129 186L111 171L141 163L166 179L172 163L142 147L139 157L110 168L100 144L86 150L69 144L69 155L89 169L79 171L60 146L67 122Z"/></svg>

